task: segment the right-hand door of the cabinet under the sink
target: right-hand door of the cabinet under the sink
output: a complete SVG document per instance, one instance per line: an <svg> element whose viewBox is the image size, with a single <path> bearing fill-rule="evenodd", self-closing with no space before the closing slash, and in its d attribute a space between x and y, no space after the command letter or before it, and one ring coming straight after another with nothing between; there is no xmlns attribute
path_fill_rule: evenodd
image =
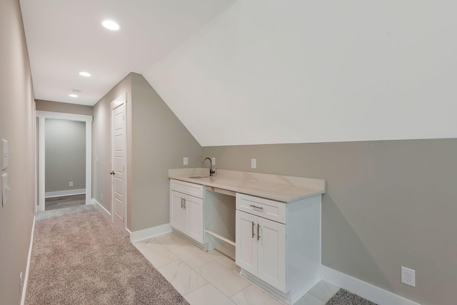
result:
<svg viewBox="0 0 457 305"><path fill-rule="evenodd" d="M186 233L191 238L204 243L203 199L184 195L186 210Z"/></svg>

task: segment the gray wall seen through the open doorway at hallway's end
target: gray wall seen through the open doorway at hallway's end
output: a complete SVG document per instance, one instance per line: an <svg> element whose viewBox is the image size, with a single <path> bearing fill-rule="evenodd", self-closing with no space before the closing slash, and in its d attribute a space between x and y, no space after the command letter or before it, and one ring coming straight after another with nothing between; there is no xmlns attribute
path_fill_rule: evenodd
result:
<svg viewBox="0 0 457 305"><path fill-rule="evenodd" d="M45 122L45 191L86 189L86 122Z"/></svg>

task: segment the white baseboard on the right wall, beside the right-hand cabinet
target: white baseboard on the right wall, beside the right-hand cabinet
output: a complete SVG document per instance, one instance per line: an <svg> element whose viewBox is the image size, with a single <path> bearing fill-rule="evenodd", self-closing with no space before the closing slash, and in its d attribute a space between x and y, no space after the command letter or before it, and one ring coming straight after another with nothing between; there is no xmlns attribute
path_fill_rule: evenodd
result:
<svg viewBox="0 0 457 305"><path fill-rule="evenodd" d="M321 278L379 305L420 305L377 286L321 265Z"/></svg>

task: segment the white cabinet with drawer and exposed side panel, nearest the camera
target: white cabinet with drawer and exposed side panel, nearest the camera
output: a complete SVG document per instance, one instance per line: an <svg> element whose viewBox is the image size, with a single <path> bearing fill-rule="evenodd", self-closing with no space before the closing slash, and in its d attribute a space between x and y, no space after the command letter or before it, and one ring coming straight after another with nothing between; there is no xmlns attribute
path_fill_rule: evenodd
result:
<svg viewBox="0 0 457 305"><path fill-rule="evenodd" d="M241 274L293 304L319 280L320 219L320 195L284 203L237 193Z"/></svg>

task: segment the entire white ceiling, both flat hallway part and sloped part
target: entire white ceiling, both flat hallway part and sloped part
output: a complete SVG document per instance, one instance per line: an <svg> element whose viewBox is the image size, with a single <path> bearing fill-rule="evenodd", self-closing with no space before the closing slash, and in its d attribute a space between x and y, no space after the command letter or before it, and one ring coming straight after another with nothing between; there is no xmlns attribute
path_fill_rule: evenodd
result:
<svg viewBox="0 0 457 305"><path fill-rule="evenodd" d="M457 136L456 1L20 2L36 99L134 71L202 146Z"/></svg>

